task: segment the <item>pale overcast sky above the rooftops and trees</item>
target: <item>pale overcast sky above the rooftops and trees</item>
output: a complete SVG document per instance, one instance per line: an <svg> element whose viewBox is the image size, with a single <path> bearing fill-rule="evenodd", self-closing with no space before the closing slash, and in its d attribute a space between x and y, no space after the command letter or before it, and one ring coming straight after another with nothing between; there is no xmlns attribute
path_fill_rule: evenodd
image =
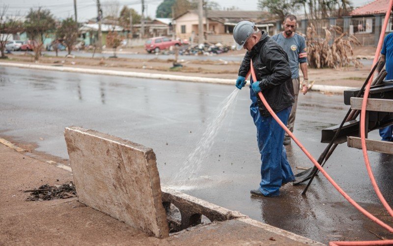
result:
<svg viewBox="0 0 393 246"><path fill-rule="evenodd" d="M156 8L163 0L145 0L147 6L147 13L151 18L155 17ZM258 0L215 0L223 7L236 6L240 10L257 10ZM372 0L352 0L354 6L361 6ZM137 12L141 12L141 0L101 0L101 5L118 2L120 8L123 5L128 5L134 8ZM241 4L239 4L241 2ZM9 6L7 14L26 15L30 7L43 6L49 8L57 18L66 18L74 15L74 1L73 0L0 0L0 4ZM77 15L78 21L83 22L90 18L97 16L97 7L95 0L77 0Z"/></svg>

